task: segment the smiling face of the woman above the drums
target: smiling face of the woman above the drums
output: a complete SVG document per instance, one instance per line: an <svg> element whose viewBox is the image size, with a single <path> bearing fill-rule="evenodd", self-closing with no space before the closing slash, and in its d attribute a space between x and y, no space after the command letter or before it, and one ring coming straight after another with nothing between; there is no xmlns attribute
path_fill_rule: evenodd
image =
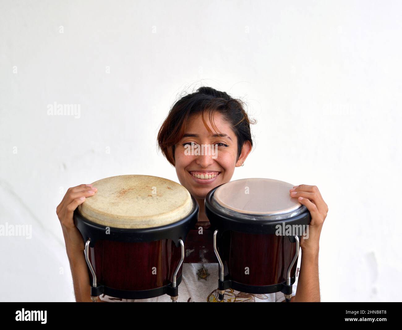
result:
<svg viewBox="0 0 402 330"><path fill-rule="evenodd" d="M183 138L176 144L174 151L178 180L191 195L198 199L204 199L207 193L219 184L229 182L234 168L241 166L250 152L246 150L245 156L240 155L236 162L237 137L230 124L220 113L215 112L213 123L219 131L215 133L209 116L204 117L212 131L211 134L208 133L201 114L193 115L190 117ZM192 144L194 144L193 148L191 148Z"/></svg>

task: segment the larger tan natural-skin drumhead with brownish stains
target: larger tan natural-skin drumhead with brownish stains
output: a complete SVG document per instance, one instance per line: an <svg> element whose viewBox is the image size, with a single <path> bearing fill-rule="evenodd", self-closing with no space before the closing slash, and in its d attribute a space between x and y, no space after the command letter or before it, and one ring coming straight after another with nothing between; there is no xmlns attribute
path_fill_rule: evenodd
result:
<svg viewBox="0 0 402 330"><path fill-rule="evenodd" d="M95 223L116 228L151 228L177 222L193 209L182 185L150 175L120 175L93 182L98 191L78 206Z"/></svg>

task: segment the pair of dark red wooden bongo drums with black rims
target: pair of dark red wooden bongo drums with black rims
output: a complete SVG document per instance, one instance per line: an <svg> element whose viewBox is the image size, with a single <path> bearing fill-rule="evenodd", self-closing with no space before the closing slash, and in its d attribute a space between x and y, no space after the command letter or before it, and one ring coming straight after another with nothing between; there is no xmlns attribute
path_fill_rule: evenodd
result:
<svg viewBox="0 0 402 330"><path fill-rule="evenodd" d="M199 205L182 185L147 175L93 183L97 193L74 211L85 242L91 298L170 295L178 299L185 241ZM295 282L300 236L277 235L277 225L305 225L310 213L289 196L286 182L252 178L222 184L205 198L219 262L218 293L283 292Z"/></svg>

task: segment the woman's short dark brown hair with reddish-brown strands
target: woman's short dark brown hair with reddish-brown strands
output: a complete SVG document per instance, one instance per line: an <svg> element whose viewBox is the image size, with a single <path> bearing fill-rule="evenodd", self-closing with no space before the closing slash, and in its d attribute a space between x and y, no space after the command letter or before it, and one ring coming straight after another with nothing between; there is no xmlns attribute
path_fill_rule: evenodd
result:
<svg viewBox="0 0 402 330"><path fill-rule="evenodd" d="M201 117L208 132L211 133L205 119L204 113L209 113L209 121L215 132L217 127L213 123L213 113L221 113L226 121L230 123L232 130L237 137L237 158L239 159L244 142L250 141L250 124L256 121L248 118L244 110L244 102L237 98L232 98L226 92L213 89L211 87L200 87L196 92L187 94L180 98L170 109L168 116L162 123L158 133L158 146L166 159L174 166L174 146L185 134L187 123L191 115L201 113Z"/></svg>

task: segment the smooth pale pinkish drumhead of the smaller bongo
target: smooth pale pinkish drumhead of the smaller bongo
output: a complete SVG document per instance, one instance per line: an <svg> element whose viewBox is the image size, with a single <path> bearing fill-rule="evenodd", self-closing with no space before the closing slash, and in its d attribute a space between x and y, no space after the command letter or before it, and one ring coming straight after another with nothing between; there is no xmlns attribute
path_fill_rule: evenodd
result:
<svg viewBox="0 0 402 330"><path fill-rule="evenodd" d="M222 207L243 214L279 215L291 213L302 205L290 197L293 184L266 178L231 181L218 187L213 199Z"/></svg>

